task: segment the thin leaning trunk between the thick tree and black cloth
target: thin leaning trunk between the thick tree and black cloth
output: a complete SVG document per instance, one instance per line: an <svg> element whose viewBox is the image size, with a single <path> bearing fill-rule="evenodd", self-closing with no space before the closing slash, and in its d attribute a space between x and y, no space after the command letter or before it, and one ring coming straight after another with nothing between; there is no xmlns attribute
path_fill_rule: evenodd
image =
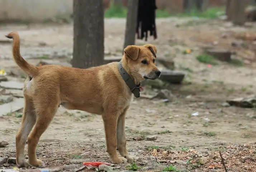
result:
<svg viewBox="0 0 256 172"><path fill-rule="evenodd" d="M128 0L124 48L127 47L128 45L135 44L138 4L139 4L138 0Z"/></svg>

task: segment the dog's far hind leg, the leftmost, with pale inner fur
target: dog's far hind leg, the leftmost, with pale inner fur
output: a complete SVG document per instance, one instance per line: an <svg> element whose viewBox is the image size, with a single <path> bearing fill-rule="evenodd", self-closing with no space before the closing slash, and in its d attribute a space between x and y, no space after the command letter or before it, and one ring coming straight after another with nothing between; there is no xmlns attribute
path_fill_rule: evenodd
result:
<svg viewBox="0 0 256 172"><path fill-rule="evenodd" d="M16 164L18 167L27 167L29 163L25 161L24 148L28 135L36 121L34 104L31 98L24 95L25 103L23 108L22 124L16 134Z"/></svg>

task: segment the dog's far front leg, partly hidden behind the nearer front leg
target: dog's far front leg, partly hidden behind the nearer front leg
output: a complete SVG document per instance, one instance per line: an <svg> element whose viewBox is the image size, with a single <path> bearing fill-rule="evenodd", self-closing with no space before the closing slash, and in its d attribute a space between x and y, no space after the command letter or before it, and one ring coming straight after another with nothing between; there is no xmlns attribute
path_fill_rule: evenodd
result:
<svg viewBox="0 0 256 172"><path fill-rule="evenodd" d="M120 114L117 122L117 150L119 151L122 157L125 157L128 162L136 161L135 158L128 155L128 151L126 149L126 137L125 137L125 114L127 109L124 109L124 112Z"/></svg>

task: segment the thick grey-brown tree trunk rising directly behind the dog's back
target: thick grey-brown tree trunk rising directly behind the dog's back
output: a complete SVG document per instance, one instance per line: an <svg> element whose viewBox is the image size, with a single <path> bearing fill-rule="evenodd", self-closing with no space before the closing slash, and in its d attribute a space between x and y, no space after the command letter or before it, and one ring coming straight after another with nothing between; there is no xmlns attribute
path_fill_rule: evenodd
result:
<svg viewBox="0 0 256 172"><path fill-rule="evenodd" d="M72 66L89 68L104 63L104 11L102 0L74 0Z"/></svg>

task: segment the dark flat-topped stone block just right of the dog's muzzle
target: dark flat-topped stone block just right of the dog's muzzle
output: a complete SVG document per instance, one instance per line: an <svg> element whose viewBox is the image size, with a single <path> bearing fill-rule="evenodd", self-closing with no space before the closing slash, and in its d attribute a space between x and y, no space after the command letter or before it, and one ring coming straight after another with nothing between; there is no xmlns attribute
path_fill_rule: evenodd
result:
<svg viewBox="0 0 256 172"><path fill-rule="evenodd" d="M159 79L172 84L181 84L184 77L185 74L183 72L163 69L161 70L161 75Z"/></svg>

